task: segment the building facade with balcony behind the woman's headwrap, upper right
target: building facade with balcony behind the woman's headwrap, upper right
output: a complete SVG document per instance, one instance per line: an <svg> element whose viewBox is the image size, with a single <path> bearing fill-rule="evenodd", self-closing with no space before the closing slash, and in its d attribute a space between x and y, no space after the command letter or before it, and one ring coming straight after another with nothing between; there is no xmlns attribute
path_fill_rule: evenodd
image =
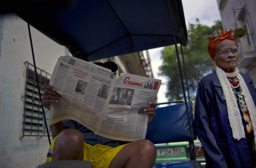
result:
<svg viewBox="0 0 256 168"><path fill-rule="evenodd" d="M239 47L240 71L248 74L256 87L256 1L255 0L217 0L222 26L243 28L245 33L237 38ZM237 36L237 35L236 35Z"/></svg>

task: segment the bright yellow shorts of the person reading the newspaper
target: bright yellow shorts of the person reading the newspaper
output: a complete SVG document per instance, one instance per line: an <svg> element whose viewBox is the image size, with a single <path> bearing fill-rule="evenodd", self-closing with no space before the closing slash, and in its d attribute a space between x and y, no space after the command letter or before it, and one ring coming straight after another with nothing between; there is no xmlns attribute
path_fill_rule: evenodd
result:
<svg viewBox="0 0 256 168"><path fill-rule="evenodd" d="M57 136L56 136L57 137ZM48 150L46 162L52 161L53 147L55 139ZM126 145L126 144L125 144ZM94 168L108 168L116 154L125 146L121 145L115 148L110 146L96 144L92 146L84 142L84 158L83 160L92 162Z"/></svg>

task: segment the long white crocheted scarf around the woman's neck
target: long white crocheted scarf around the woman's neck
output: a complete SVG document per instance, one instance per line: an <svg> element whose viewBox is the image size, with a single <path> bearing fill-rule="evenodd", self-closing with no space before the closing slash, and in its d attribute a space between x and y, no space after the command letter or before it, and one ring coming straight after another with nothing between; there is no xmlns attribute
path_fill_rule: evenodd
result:
<svg viewBox="0 0 256 168"><path fill-rule="evenodd" d="M223 90L223 93L224 93L224 96L226 99L227 110L228 110L228 120L230 123L230 127L232 129L233 137L236 140L245 138L244 126L242 123L242 118L240 116L240 111L238 109L235 95L232 91L232 86L231 86L230 82L228 81L227 77L238 78L241 90L242 90L242 92L245 93L244 100L245 100L247 109L250 113L252 127L253 127L253 129L256 129L256 108L255 108L254 102L252 100L252 96L244 82L244 79L239 74L239 70L237 67L235 69L235 72L226 73L226 72L224 72L224 70L222 70L221 68L216 66L216 74L218 76L218 79L220 80L220 85L222 87L222 90ZM256 142L256 131L254 131L254 141Z"/></svg>

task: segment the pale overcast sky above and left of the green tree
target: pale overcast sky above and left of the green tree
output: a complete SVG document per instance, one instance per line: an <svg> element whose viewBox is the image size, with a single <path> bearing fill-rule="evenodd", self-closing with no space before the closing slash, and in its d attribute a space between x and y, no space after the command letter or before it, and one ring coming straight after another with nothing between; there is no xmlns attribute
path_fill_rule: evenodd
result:
<svg viewBox="0 0 256 168"><path fill-rule="evenodd" d="M196 23L196 18L199 18L201 24L205 24L207 26L214 25L214 20L218 20L220 18L220 12L218 10L217 0L182 0L183 10L186 20L186 25L188 28L188 23ZM209 34L210 35L210 34ZM150 49L150 62L152 66L152 71L154 74L154 78L162 80L162 85L158 92L158 100L157 102L168 102L168 99L165 97L167 92L167 81L168 78L164 76L159 76L158 67L162 65L161 60L161 50L163 47ZM159 107L163 107L167 105L160 105Z"/></svg>

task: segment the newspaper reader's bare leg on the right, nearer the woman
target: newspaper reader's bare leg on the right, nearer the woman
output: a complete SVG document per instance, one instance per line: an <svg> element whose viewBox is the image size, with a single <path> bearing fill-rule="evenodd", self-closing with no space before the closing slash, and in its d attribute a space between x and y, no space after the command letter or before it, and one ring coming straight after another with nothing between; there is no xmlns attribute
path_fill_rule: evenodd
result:
<svg viewBox="0 0 256 168"><path fill-rule="evenodd" d="M137 140L118 152L109 168L151 168L156 160L156 147L149 140Z"/></svg>

